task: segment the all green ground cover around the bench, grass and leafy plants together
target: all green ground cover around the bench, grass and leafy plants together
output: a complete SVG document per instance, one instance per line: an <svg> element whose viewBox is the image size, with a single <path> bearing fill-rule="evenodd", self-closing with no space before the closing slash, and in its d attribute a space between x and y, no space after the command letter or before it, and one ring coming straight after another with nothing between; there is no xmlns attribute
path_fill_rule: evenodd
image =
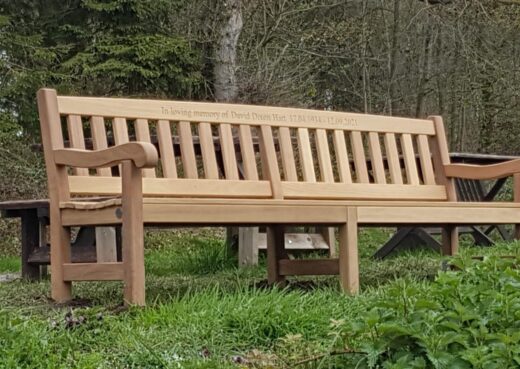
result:
<svg viewBox="0 0 520 369"><path fill-rule="evenodd" d="M67 306L47 280L1 283L0 368L519 367L518 244L463 247L445 272L433 252L372 260L388 234L361 232L355 297L335 277L266 287L264 261L237 268L218 231L147 234L146 308L122 309L116 282L79 283Z"/></svg>

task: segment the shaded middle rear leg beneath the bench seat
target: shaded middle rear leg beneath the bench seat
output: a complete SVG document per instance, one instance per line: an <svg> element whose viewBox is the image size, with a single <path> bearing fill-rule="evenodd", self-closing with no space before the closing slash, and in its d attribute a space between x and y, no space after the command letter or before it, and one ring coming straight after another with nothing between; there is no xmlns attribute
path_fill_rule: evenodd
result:
<svg viewBox="0 0 520 369"><path fill-rule="evenodd" d="M269 284L283 285L285 282L285 276L280 275L278 263L280 259L287 259L284 227L272 225L267 227L267 281Z"/></svg>

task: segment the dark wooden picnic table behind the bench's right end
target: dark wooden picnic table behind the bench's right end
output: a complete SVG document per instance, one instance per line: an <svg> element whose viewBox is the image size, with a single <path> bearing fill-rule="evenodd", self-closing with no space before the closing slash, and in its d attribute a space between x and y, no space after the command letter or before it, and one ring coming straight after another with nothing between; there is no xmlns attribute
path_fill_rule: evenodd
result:
<svg viewBox="0 0 520 369"><path fill-rule="evenodd" d="M472 153L450 153L453 163L466 164L496 164L507 160L519 159L517 156L472 154ZM493 201L502 190L507 178L496 180L493 185L486 190L484 181L470 179L455 179L455 187L460 201ZM475 244L480 246L492 246L493 240L489 234L496 229L502 239L509 241L512 235L503 225L489 225L481 228L477 226L461 227L461 233L469 233L473 237ZM374 258L383 259L393 251L399 249L414 249L421 245L434 250L440 250L440 244L432 237L440 233L439 229L424 229L420 227L401 227L397 232L374 254Z"/></svg>

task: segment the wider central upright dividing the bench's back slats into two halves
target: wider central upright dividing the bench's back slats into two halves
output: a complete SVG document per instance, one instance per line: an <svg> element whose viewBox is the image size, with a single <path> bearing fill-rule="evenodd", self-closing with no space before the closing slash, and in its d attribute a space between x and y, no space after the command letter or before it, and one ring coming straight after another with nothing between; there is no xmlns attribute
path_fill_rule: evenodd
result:
<svg viewBox="0 0 520 369"><path fill-rule="evenodd" d="M280 168L278 167L278 158L273 141L273 132L270 126L260 126L260 154L262 156L262 171L264 179L268 179L271 183L271 191L273 198L282 199L283 190L280 178Z"/></svg>

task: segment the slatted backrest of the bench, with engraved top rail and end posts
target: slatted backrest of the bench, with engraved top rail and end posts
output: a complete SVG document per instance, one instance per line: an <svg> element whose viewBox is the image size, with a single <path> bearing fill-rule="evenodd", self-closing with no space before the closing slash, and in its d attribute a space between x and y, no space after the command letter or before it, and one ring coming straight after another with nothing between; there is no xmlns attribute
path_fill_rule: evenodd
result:
<svg viewBox="0 0 520 369"><path fill-rule="evenodd" d="M60 171L52 150L67 141L103 149L137 140L159 149L158 167L143 172L145 196L448 198L442 168L434 170L449 160L438 118L56 96L50 89L40 90L38 102L49 175ZM65 176L66 196L121 193L111 168Z"/></svg>

